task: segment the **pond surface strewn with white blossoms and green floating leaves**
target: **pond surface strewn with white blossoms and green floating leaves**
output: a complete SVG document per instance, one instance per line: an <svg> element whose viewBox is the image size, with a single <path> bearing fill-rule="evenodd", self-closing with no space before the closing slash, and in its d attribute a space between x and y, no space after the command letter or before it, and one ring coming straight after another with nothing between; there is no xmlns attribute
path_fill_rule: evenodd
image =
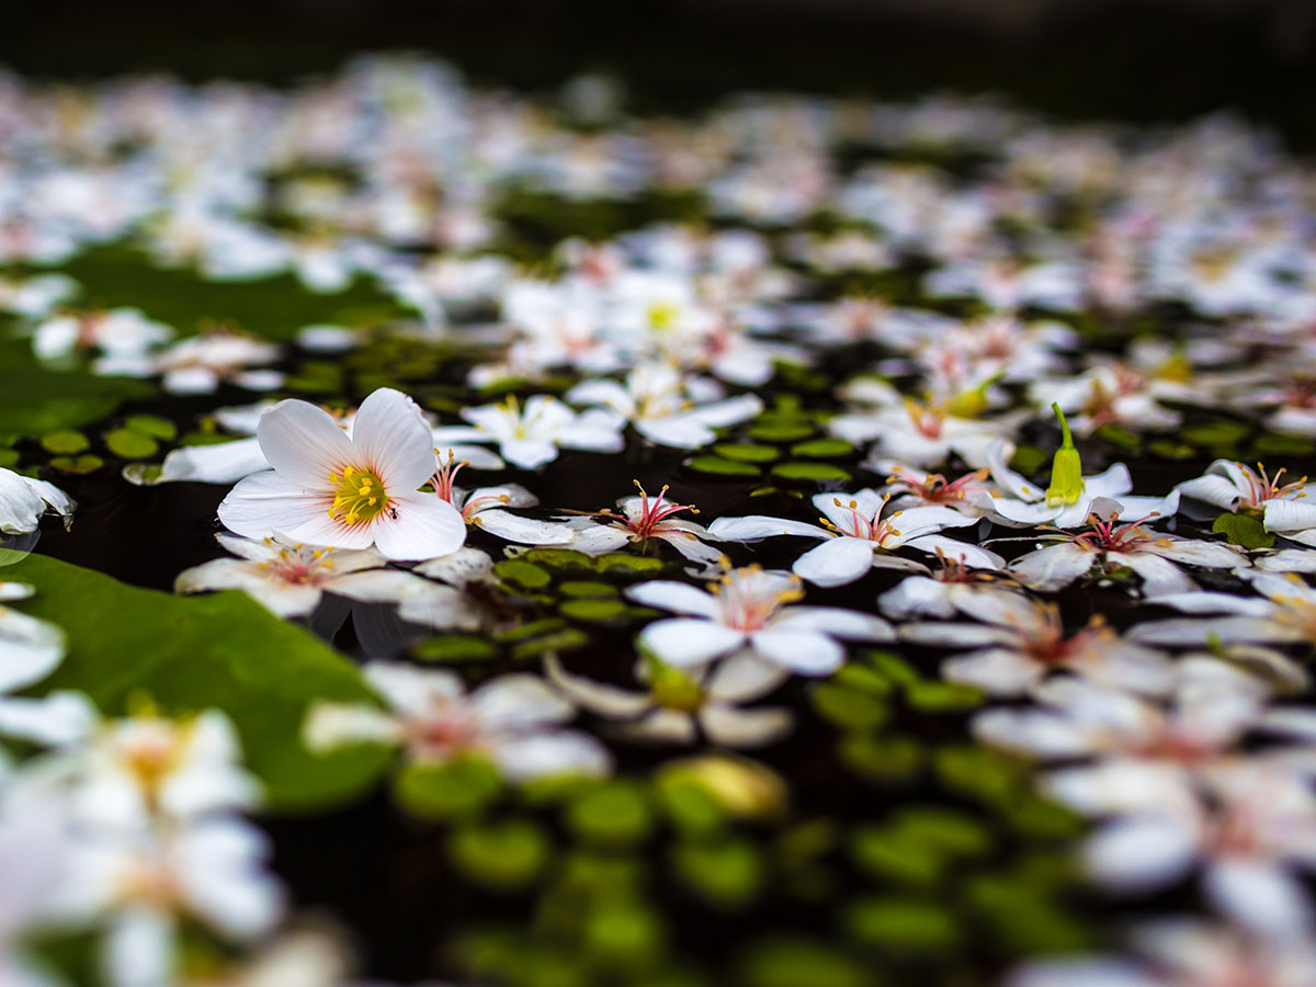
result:
<svg viewBox="0 0 1316 987"><path fill-rule="evenodd" d="M0 970L1311 982L1313 190L1228 117L5 79Z"/></svg>

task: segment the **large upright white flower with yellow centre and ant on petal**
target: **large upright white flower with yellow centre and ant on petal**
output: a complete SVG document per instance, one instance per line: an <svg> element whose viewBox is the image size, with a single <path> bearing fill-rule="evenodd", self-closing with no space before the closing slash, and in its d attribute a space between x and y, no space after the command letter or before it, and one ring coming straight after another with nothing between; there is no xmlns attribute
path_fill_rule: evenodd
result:
<svg viewBox="0 0 1316 987"><path fill-rule="evenodd" d="M261 416L257 438L274 471L247 476L220 504L220 520L238 534L375 546L392 559L446 555L466 541L461 513L418 491L434 472L434 447L420 408L397 391L362 401L351 438L328 412L296 400Z"/></svg>

